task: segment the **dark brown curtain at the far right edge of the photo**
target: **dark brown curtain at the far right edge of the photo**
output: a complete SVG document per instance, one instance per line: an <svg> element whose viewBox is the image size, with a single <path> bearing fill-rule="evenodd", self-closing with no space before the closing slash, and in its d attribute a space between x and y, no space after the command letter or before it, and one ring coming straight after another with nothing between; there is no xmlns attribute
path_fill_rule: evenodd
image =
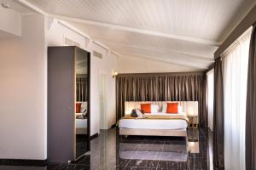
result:
<svg viewBox="0 0 256 170"><path fill-rule="evenodd" d="M256 169L256 24L249 49L246 112L246 169Z"/></svg>

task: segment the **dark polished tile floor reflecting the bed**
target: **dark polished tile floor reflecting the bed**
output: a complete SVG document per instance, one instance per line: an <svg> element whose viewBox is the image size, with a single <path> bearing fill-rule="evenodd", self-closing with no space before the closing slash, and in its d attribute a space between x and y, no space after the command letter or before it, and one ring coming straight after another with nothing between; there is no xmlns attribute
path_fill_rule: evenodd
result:
<svg viewBox="0 0 256 170"><path fill-rule="evenodd" d="M116 128L101 130L91 141L91 151L72 164L50 163L33 167L1 166L5 170L207 170L212 169L212 134L208 129L188 129L181 137L119 136Z"/></svg>

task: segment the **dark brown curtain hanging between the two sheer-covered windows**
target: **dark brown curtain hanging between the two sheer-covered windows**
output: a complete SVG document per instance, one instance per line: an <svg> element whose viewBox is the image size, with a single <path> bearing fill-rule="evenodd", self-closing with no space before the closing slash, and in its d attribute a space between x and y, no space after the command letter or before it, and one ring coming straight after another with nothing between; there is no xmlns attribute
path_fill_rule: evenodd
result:
<svg viewBox="0 0 256 170"><path fill-rule="evenodd" d="M224 169L224 87L221 58L214 65L213 164Z"/></svg>

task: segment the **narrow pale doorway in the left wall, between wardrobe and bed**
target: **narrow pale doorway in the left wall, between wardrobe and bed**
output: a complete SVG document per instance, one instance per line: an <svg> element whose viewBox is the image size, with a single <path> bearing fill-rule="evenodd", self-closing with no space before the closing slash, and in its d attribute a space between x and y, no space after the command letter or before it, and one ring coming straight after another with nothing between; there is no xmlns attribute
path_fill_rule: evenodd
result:
<svg viewBox="0 0 256 170"><path fill-rule="evenodd" d="M106 75L100 74L100 129L108 129Z"/></svg>

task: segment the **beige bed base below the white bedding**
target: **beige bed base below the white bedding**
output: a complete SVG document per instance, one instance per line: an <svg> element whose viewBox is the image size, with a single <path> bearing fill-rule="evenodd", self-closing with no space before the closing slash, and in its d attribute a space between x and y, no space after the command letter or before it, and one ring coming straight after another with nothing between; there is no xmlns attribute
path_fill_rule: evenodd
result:
<svg viewBox="0 0 256 170"><path fill-rule="evenodd" d="M119 128L119 135L181 136L187 137L187 130Z"/></svg>

